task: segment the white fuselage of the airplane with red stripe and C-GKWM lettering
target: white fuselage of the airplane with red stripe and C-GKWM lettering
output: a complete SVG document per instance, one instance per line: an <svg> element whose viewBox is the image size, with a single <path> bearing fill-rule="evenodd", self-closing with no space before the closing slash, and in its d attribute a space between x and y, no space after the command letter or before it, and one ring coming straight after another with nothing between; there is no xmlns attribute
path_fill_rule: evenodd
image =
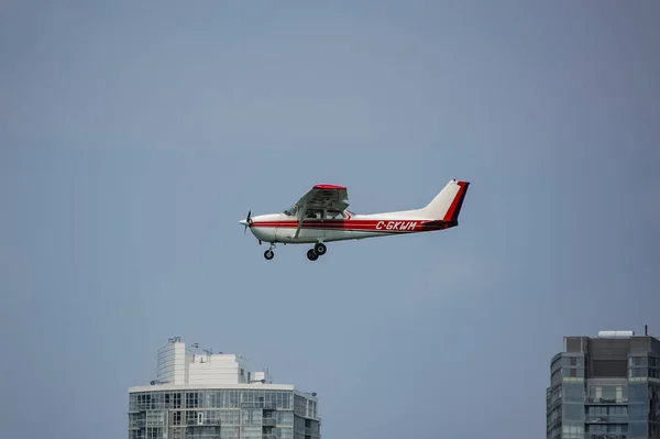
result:
<svg viewBox="0 0 660 439"><path fill-rule="evenodd" d="M429 232L455 226L451 221L435 221L413 212L354 215L342 212L340 219L310 219L302 221L298 237L298 220L285 213L254 217L249 224L254 237L263 242L305 244L376 238L402 233Z"/></svg>

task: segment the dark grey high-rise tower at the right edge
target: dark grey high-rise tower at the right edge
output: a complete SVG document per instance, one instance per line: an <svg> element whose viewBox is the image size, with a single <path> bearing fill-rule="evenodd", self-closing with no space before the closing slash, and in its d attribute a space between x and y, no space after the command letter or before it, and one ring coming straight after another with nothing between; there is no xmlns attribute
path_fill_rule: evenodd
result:
<svg viewBox="0 0 660 439"><path fill-rule="evenodd" d="M660 439L660 340L564 337L547 389L547 439Z"/></svg>

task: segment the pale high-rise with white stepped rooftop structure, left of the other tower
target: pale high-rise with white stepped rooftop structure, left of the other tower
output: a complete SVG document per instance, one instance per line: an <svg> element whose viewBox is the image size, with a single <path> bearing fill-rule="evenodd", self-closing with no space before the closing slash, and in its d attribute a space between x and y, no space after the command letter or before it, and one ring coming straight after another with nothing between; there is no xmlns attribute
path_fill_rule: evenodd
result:
<svg viewBox="0 0 660 439"><path fill-rule="evenodd" d="M239 354L197 348L169 339L156 380L129 388L129 439L320 439L316 393L273 384Z"/></svg>

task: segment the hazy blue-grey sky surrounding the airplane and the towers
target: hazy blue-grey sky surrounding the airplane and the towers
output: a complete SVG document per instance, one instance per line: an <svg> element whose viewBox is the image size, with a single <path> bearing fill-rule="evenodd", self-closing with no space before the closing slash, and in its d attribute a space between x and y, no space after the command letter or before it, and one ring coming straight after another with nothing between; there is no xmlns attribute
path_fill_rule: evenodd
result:
<svg viewBox="0 0 660 439"><path fill-rule="evenodd" d="M95 4L92 4L95 3ZM173 336L324 438L544 436L565 334L660 333L660 2L0 3L0 419L127 435ZM457 229L275 260L238 221L472 182Z"/></svg>

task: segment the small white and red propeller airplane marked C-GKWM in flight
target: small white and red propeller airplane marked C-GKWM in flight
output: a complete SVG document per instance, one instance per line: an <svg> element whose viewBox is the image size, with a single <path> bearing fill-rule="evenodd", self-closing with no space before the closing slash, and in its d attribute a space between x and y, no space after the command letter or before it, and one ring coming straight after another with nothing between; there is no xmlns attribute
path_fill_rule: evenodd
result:
<svg viewBox="0 0 660 439"><path fill-rule="evenodd" d="M276 243L314 244L307 259L316 261L328 251L326 243L361 240L446 230L459 226L459 213L470 182L450 180L424 208L396 212L358 215L348 210L349 194L345 186L315 185L300 199L282 213L252 217L244 220L243 233L250 231L258 244L270 243L264 257L271 261Z"/></svg>

